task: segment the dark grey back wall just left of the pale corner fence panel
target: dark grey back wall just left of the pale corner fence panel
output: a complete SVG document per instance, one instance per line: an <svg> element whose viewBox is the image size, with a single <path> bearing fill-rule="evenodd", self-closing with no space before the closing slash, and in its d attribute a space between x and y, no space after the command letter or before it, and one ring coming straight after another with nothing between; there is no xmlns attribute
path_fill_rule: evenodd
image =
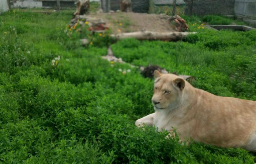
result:
<svg viewBox="0 0 256 164"><path fill-rule="evenodd" d="M186 3L186 14L189 14L191 0ZM196 15L234 15L234 0L194 0L192 13Z"/></svg>

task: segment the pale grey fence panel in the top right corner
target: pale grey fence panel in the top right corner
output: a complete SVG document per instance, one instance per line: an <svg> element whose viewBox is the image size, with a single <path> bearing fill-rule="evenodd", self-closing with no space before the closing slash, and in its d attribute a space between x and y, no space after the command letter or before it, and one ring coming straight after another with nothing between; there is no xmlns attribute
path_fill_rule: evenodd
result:
<svg viewBox="0 0 256 164"><path fill-rule="evenodd" d="M256 1L235 0L234 12L238 17L256 20Z"/></svg>

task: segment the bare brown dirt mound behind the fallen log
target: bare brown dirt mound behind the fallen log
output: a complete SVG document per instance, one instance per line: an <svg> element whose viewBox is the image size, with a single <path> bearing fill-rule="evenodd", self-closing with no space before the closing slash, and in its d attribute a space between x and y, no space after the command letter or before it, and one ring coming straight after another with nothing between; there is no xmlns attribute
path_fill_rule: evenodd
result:
<svg viewBox="0 0 256 164"><path fill-rule="evenodd" d="M174 26L165 16L148 13L117 12L95 13L92 17L102 18L114 34L140 30L172 32Z"/></svg>

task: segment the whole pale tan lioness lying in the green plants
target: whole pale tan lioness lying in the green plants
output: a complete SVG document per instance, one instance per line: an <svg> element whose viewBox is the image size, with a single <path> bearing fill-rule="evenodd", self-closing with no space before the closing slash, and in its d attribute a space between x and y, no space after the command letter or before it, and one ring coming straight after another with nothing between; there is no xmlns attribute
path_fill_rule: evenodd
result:
<svg viewBox="0 0 256 164"><path fill-rule="evenodd" d="M155 70L152 103L155 113L135 125L156 126L180 134L180 139L219 147L256 151L256 101L221 97L194 88L174 74Z"/></svg>

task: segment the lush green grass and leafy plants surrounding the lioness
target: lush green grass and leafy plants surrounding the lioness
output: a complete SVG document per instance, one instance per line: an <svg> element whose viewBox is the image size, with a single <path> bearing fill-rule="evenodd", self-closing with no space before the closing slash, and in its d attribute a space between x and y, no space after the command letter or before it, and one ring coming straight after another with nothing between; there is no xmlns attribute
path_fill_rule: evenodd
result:
<svg viewBox="0 0 256 164"><path fill-rule="evenodd" d="M153 81L101 59L107 36L82 47L82 34L67 35L71 17L14 10L0 17L0 163L255 163L243 149L182 146L166 132L136 128L154 112ZM133 65L193 75L193 85L211 93L256 100L255 31L197 26L184 42L126 39L112 49Z"/></svg>

